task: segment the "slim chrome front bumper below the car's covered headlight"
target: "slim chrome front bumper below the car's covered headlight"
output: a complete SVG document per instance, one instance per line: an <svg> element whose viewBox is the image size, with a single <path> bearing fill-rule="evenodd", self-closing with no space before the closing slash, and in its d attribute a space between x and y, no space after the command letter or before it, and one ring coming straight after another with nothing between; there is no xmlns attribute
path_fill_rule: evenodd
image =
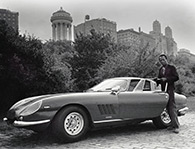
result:
<svg viewBox="0 0 195 149"><path fill-rule="evenodd" d="M48 122L50 122L50 120L42 120L42 121L34 121L34 122L14 121L13 125L16 127L25 127L25 126L45 124Z"/></svg>

